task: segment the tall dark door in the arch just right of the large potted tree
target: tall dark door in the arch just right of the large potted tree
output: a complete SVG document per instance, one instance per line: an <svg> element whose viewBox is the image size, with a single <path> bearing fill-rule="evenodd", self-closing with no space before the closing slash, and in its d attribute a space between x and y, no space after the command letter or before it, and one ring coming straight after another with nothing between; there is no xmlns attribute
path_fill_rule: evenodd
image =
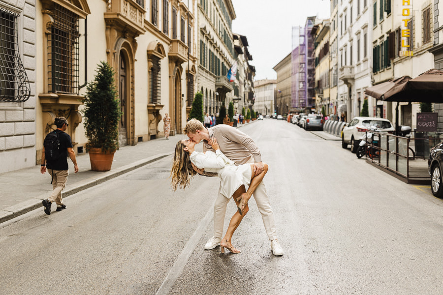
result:
<svg viewBox="0 0 443 295"><path fill-rule="evenodd" d="M119 56L119 99L122 117L119 123L119 145L127 145L127 60L122 51Z"/></svg>

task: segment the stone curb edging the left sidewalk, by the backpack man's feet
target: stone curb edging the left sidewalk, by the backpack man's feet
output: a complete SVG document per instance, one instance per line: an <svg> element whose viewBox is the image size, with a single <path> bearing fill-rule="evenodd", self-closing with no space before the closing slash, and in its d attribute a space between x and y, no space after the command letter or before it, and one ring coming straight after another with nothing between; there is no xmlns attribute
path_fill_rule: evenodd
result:
<svg viewBox="0 0 443 295"><path fill-rule="evenodd" d="M145 166L147 164L151 164L152 162L158 161L158 160L160 160L164 157L167 157L169 155L172 155L172 154L173 154L173 152L169 152L169 153L159 154L156 156L145 158L145 159L133 162L131 164L128 164L126 166L116 168L115 170L104 172L103 174L100 174L97 177L90 177L88 179L78 181L73 184L73 187L71 187L69 189L65 189L63 191L63 198L66 198L70 195L78 193L78 192L85 190L87 188L93 187L97 184L100 184L100 183L110 180L112 178L121 176L125 173L128 173L132 170L135 170L135 169ZM8 220L13 219L15 217L18 217L18 216L23 215L25 213L28 213L29 211L32 211L32 210L37 209L39 207L42 207L41 201L44 199L47 199L49 196L51 196L51 192L52 191L49 191L45 194L38 196L37 198L32 198L31 200L27 200L27 201L21 202L19 204L16 204L16 205L13 205L13 206L10 206L10 207L0 210L0 223L3 223L5 221L8 221Z"/></svg>

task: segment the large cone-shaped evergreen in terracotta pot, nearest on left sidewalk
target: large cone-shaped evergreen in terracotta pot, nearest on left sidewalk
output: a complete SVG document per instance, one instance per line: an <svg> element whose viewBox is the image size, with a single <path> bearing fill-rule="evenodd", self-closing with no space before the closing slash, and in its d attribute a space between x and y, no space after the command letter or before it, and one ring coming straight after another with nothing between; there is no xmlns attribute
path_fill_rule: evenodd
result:
<svg viewBox="0 0 443 295"><path fill-rule="evenodd" d="M114 153L119 148L119 121L122 116L115 87L114 70L109 63L98 64L94 81L88 83L83 99L85 135L88 139L91 170L111 170Z"/></svg>

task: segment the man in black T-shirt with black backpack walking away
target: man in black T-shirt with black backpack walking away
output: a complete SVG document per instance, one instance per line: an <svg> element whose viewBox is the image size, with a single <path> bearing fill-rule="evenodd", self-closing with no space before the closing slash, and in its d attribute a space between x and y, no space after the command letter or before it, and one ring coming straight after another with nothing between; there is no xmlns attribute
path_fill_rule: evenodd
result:
<svg viewBox="0 0 443 295"><path fill-rule="evenodd" d="M74 163L74 173L78 172L77 160L75 152L72 149L71 137L67 134L67 120L64 117L55 118L54 124L57 129L48 133L43 142L43 151L41 153L40 173L45 174L46 169L51 175L52 194L48 199L42 201L46 214L51 214L51 204L56 202L57 211L66 208L62 200L62 190L66 185L68 176L67 155Z"/></svg>

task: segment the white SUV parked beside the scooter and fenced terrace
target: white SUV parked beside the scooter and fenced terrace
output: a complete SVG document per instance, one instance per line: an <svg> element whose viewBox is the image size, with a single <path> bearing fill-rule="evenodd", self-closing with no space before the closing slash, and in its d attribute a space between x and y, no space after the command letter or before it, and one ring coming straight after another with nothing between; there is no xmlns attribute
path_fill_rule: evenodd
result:
<svg viewBox="0 0 443 295"><path fill-rule="evenodd" d="M376 127L380 132L393 133L394 126L388 119L376 117L355 117L343 127L342 148L351 145L351 152L356 152L362 132L366 132L370 126Z"/></svg>

